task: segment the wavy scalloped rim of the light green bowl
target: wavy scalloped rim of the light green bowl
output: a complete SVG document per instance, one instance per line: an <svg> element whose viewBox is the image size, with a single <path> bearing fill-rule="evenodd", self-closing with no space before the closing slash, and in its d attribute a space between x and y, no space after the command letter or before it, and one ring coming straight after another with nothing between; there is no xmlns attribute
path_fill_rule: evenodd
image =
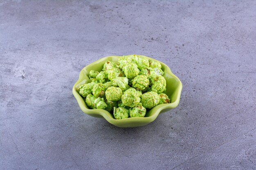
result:
<svg viewBox="0 0 256 170"><path fill-rule="evenodd" d="M126 56L131 56L131 55L126 55ZM147 57L147 56L144 56L144 55L137 55L137 56L143 56L143 57L146 57L148 58L149 60L155 60L153 58L150 58L150 57ZM178 86L177 86L177 97L175 98L174 101L172 101L171 103L168 103L168 104L159 104L157 106L154 107L155 109L155 113L153 113L152 115L148 116L148 117L128 117L126 119L115 119L112 117L111 113L108 112L107 110L104 110L104 109L88 109L85 107L85 102L84 102L84 99L81 97L81 95L78 93L78 91L76 90L76 86L77 84L79 84L83 79L82 79L82 75L84 75L83 71L90 65L93 65L93 64L96 64L97 62L99 61L102 61L102 60L106 60L106 58L112 58L112 57L121 57L121 56L118 56L118 55L112 55L112 56L107 56L107 57L103 57L99 60L96 60L95 62L92 62L88 65L86 65L85 67L83 67L83 69L80 71L80 74L79 74L79 79L76 81L76 83L74 84L73 88L72 88L72 93L74 95L74 97L76 98L78 104L79 104L79 107L81 108L81 110L88 114L88 115L101 115L103 118L105 118L108 122L110 122L111 124L115 124L116 123L130 123L130 121L133 121L133 122L140 122L140 121L153 121L155 120L155 118L159 115L159 113L164 110L164 109L171 109L171 108L175 108L179 102L180 102L180 95L181 95L181 91L182 91L182 82L180 81L180 79L174 75L171 71L171 69L166 65L164 64L163 62L161 61L158 61L158 60L155 60L157 62L160 62L161 65L164 65L165 66L165 73L168 73L169 75L171 75L172 77L174 77L175 79L177 79L177 81L179 82ZM107 60L106 60L107 61Z"/></svg>

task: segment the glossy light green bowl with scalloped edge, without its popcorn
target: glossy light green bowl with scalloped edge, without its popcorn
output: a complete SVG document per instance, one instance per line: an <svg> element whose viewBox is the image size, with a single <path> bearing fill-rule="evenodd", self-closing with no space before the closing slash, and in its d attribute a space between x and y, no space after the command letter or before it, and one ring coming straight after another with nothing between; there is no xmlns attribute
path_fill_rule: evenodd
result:
<svg viewBox="0 0 256 170"><path fill-rule="evenodd" d="M137 55L137 56L143 56L143 55ZM166 95L171 99L171 103L169 104L159 104L155 106L154 108L147 111L145 117L129 117L126 119L114 119L113 115L109 113L107 110L103 109L90 109L85 103L85 99L79 95L78 88L81 84L86 84L90 82L89 78L89 72L90 70L95 71L102 71L103 64L106 61L113 61L117 62L118 58L120 56L109 56L101 58L100 60L97 60L96 62L93 62L89 64L88 66L85 66L82 71L80 72L78 81L74 84L72 92L74 97L76 97L76 100L81 108L81 110L92 116L92 117L104 117L110 124L113 124L118 127L122 128L131 128L131 127L137 127L137 126L144 126L146 124L151 123L155 120L155 118L159 115L159 113L164 113L168 110L171 110L172 108L175 108L179 102L180 102L180 94L182 90L182 83L180 82L180 79L178 79L170 70L170 68L162 63L162 70L164 71L164 78L166 79ZM144 56L146 57L146 56ZM153 58L147 57L149 60L155 60ZM155 60L157 61L157 60Z"/></svg>

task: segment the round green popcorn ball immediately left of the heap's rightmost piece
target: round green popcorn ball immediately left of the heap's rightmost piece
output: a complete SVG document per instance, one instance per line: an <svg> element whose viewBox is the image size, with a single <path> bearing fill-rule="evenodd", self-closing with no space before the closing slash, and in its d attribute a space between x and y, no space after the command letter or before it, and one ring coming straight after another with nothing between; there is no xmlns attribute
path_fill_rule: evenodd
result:
<svg viewBox="0 0 256 170"><path fill-rule="evenodd" d="M159 103L159 95L156 92L146 92L141 96L141 104L145 108L153 108Z"/></svg>

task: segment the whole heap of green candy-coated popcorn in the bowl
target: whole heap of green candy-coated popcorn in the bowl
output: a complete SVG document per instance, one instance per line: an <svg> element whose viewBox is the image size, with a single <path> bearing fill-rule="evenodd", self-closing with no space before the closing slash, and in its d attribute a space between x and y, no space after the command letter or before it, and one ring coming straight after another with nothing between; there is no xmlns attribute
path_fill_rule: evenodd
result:
<svg viewBox="0 0 256 170"><path fill-rule="evenodd" d="M91 70L91 82L80 85L79 93L89 108L108 110L115 119L144 117L146 108L170 103L161 68L146 57L122 56L106 61L101 72Z"/></svg>

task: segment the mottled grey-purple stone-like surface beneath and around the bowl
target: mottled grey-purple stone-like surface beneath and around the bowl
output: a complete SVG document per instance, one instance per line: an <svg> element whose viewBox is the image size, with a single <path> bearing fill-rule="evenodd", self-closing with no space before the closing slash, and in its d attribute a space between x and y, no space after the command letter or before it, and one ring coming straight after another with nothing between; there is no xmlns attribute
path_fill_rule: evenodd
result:
<svg viewBox="0 0 256 170"><path fill-rule="evenodd" d="M253 169L256 1L0 0L0 169ZM85 115L86 64L141 54L183 83L147 126Z"/></svg>

